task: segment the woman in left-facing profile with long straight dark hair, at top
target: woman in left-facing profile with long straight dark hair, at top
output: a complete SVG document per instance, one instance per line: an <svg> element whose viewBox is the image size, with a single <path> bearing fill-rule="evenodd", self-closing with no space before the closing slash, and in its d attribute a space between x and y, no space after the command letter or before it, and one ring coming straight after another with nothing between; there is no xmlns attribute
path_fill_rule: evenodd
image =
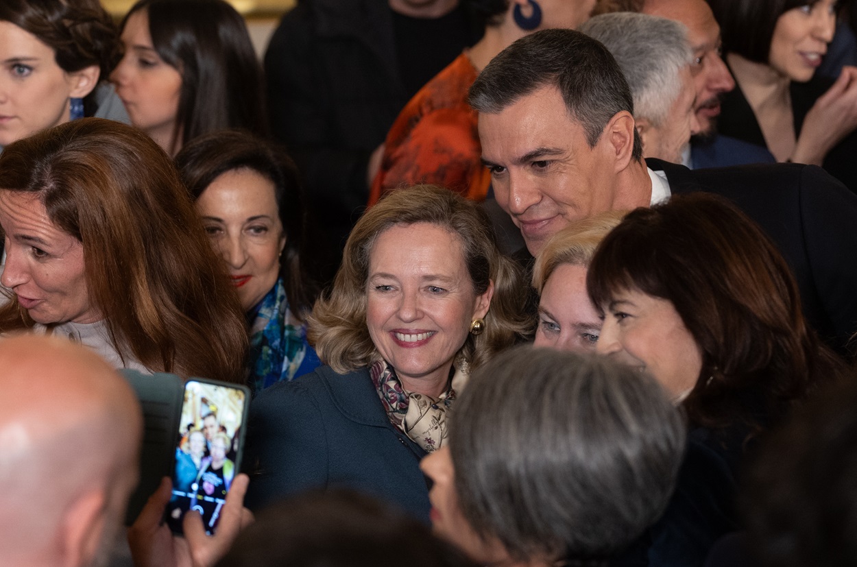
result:
<svg viewBox="0 0 857 567"><path fill-rule="evenodd" d="M261 66L247 26L224 0L139 0L122 21L111 75L131 123L175 155L201 134L267 134Z"/></svg>

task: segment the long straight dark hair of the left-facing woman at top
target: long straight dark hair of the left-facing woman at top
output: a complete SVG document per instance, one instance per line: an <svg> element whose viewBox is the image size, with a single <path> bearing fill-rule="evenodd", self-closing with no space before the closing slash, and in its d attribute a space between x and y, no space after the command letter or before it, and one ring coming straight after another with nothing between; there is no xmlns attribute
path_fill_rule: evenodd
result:
<svg viewBox="0 0 857 567"><path fill-rule="evenodd" d="M121 27L141 10L155 51L182 75L171 152L225 128L267 135L261 65L236 9L224 0L140 0Z"/></svg>

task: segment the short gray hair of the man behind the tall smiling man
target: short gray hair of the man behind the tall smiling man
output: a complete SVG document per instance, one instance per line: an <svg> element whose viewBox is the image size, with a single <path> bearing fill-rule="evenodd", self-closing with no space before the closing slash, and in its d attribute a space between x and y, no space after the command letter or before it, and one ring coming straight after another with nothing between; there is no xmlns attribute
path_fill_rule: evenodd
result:
<svg viewBox="0 0 857 567"><path fill-rule="evenodd" d="M692 61L687 28L656 15L618 12L592 18L580 31L604 44L631 87L635 116L661 126L681 91L681 69Z"/></svg>

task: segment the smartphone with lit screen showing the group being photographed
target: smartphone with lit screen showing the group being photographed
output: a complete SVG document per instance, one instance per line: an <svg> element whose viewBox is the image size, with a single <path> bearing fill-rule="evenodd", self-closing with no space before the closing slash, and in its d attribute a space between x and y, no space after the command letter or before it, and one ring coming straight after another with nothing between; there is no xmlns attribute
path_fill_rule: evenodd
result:
<svg viewBox="0 0 857 567"><path fill-rule="evenodd" d="M217 528L232 480L241 465L243 423L249 390L241 386L190 379L184 387L178 427L172 498L166 522L182 533L188 510L198 510L206 533Z"/></svg>

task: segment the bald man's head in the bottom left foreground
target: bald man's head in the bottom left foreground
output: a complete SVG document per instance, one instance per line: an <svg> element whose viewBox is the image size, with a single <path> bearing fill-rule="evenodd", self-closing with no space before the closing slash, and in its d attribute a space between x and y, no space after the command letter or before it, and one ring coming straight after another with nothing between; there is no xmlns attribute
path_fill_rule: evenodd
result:
<svg viewBox="0 0 857 567"><path fill-rule="evenodd" d="M95 564L137 481L134 391L89 349L32 335L0 339L0 384L0 564Z"/></svg>

